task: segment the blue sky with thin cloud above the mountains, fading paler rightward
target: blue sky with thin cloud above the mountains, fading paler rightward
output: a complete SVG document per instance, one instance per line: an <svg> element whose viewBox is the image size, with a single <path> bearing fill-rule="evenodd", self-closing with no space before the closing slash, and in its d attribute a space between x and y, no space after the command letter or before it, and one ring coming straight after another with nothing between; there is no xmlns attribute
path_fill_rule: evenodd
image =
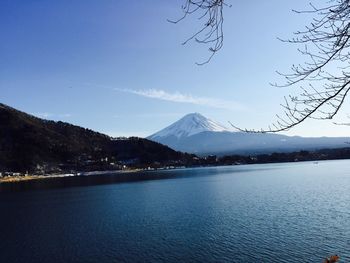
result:
<svg viewBox="0 0 350 263"><path fill-rule="evenodd" d="M199 29L179 24L180 0L1 0L0 102L111 136L148 136L199 112L226 126L266 128L297 87L283 82L304 60L290 38L308 1L235 0L225 9L224 46L181 43ZM313 3L324 3L318 0ZM200 21L199 21L200 22ZM335 119L347 120L348 103ZM286 132L348 136L350 127L308 120Z"/></svg>

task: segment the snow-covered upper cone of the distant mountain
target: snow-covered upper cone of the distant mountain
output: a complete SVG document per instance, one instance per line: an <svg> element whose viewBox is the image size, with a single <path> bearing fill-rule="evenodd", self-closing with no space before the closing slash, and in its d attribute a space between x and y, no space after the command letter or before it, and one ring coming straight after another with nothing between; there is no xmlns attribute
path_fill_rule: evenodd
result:
<svg viewBox="0 0 350 263"><path fill-rule="evenodd" d="M190 113L164 128L163 130L149 136L149 139L175 136L177 138L189 137L201 132L231 132L227 127L212 121L199 113Z"/></svg>

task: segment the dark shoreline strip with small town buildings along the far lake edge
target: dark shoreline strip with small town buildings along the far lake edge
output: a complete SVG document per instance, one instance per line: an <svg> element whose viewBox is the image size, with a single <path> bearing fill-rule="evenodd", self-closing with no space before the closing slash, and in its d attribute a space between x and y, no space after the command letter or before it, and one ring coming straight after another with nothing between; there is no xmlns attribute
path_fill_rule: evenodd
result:
<svg viewBox="0 0 350 263"><path fill-rule="evenodd" d="M192 155L191 158L187 158L186 160L178 159L168 161L167 163L155 161L148 164L140 163L138 158L118 161L114 157L104 157L100 159L93 159L92 156L86 155L83 155L83 157L80 157L75 161L69 161L59 165L49 163L37 164L35 169L26 172L3 170L0 171L0 177L50 176L64 174L79 176L94 173L98 174L101 172L113 173L118 171L154 171L189 167L341 160L350 159L350 147L341 149L298 151L291 153L275 152L271 154L258 155L208 155L205 157Z"/></svg>

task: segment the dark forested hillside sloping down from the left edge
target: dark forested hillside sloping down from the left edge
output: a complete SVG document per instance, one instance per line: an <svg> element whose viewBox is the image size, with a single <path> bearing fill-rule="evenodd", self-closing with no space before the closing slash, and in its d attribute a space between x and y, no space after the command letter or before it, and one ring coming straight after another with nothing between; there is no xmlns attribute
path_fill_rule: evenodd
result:
<svg viewBox="0 0 350 263"><path fill-rule="evenodd" d="M147 139L113 139L0 104L0 171L31 171L38 165L95 162L106 157L113 161L152 164L188 156Z"/></svg>

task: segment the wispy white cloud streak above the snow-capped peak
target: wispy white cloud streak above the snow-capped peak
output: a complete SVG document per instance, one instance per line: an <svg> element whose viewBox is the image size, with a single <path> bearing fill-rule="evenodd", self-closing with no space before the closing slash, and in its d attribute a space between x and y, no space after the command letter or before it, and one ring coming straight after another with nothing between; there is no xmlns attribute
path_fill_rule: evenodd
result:
<svg viewBox="0 0 350 263"><path fill-rule="evenodd" d="M195 105L202 105L211 108L226 109L226 110L244 110L245 107L239 103L216 99L193 96L191 94L183 94L180 92L167 92L159 89L143 89L143 90L133 90L133 89L114 89L116 91L127 92L135 94L142 97L172 101L178 103L189 103Z"/></svg>

